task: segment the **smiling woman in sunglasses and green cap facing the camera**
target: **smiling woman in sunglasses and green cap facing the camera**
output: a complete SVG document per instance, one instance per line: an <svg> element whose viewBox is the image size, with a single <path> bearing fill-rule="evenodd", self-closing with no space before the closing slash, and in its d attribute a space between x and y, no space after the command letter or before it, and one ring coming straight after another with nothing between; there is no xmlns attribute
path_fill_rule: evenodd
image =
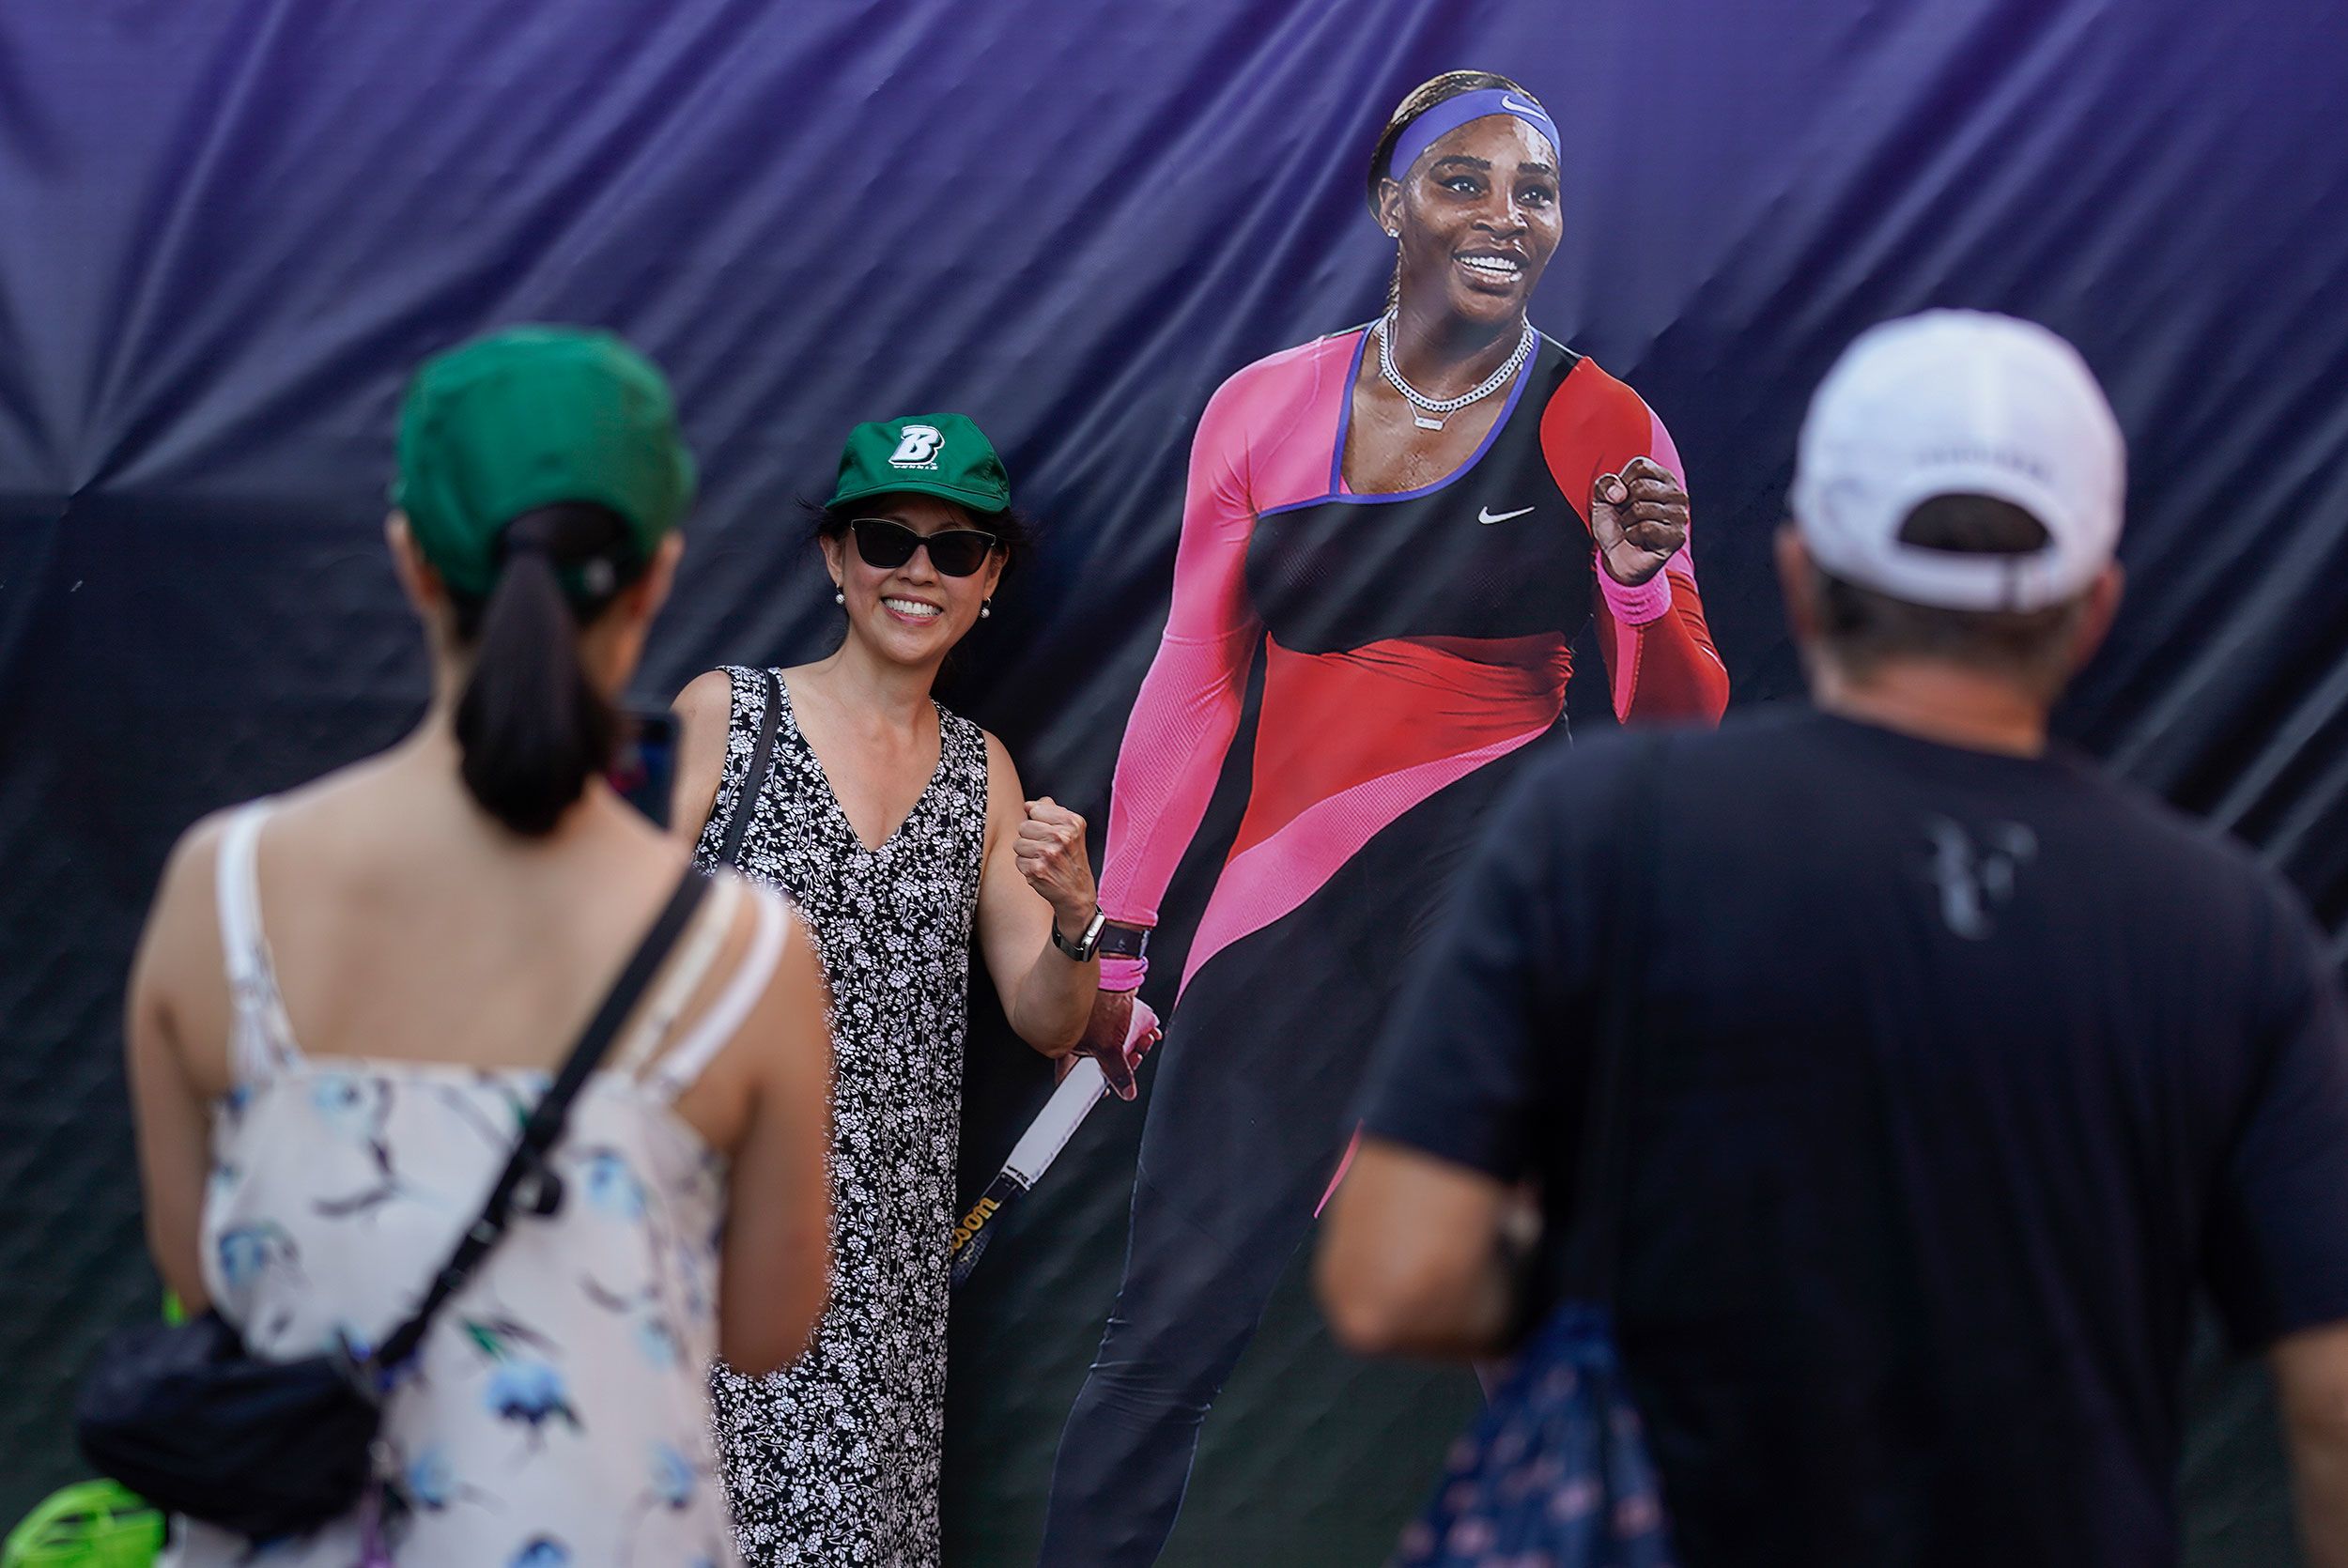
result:
<svg viewBox="0 0 2348 1568"><path fill-rule="evenodd" d="M740 826L742 871L808 915L838 1038L831 1305L805 1359L721 1366L714 1394L751 1561L913 1566L937 1561L970 934L1012 1028L1059 1056L1101 920L1085 819L1026 800L1003 742L930 697L1024 542L996 448L958 413L859 425L817 538L838 650L679 697L674 819L704 864Z"/></svg>

